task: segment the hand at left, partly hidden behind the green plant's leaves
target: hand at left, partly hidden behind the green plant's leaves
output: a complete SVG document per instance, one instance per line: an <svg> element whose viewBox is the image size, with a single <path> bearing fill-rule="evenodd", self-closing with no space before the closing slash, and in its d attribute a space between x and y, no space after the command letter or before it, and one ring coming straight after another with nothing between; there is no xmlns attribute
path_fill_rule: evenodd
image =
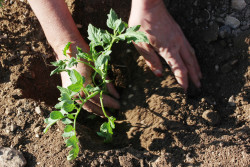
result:
<svg viewBox="0 0 250 167"><path fill-rule="evenodd" d="M76 54L76 49L73 49L73 48L76 48L76 45L75 44L71 44L70 45L70 49L69 51L67 52L67 54L69 56L72 56L72 55L75 55ZM86 46L85 48L83 47L82 48L85 52L88 51L88 49L86 49ZM58 56L61 58L61 56ZM64 57L65 58L65 57ZM93 72L93 70L83 64L83 63L79 63L77 65L77 67L73 67L75 70L77 70L82 76L85 77L86 81L84 83L84 86L86 86L87 84L92 84L92 78L91 78L91 74ZM71 81L70 81L70 78L68 76L68 74L66 72L63 72L61 73L61 78L62 78L62 86L63 87L68 87L69 85L71 85ZM107 84L107 88L108 88L108 91L109 93L115 97L115 98L119 98L119 94L117 93L116 89L114 88L114 86L112 85L112 83L108 83ZM82 92L81 93L82 96L84 96L84 93ZM89 101L87 101L85 103L85 105L83 105L83 109L87 110L88 112L92 112L96 115L99 115L99 116L104 116L103 114L103 111L101 109L101 104L100 104L100 96L97 95L95 97L93 97L92 99L90 99ZM120 104L119 102L112 98L111 96L108 96L108 95L103 95L103 104L105 107L108 107L108 108L113 108L113 109L119 109L120 108Z"/></svg>

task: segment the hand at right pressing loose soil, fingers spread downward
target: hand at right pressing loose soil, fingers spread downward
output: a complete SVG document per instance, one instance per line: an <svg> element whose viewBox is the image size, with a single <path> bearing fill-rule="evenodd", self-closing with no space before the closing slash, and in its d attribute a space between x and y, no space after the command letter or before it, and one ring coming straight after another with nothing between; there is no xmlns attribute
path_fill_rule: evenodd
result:
<svg viewBox="0 0 250 167"><path fill-rule="evenodd" d="M186 91L188 76L196 87L202 77L200 67L178 24L167 12L162 0L133 0L129 26L141 25L140 31L147 34L150 44L135 45L147 65L156 76L162 76L162 64L157 53L165 59L177 82Z"/></svg>

